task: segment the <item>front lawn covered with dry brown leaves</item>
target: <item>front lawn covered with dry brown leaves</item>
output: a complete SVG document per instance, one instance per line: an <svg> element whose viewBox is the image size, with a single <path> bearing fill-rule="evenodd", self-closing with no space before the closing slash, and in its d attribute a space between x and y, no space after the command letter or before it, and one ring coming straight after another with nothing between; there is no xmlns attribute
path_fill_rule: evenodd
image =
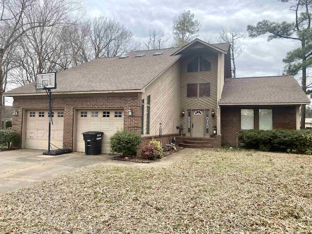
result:
<svg viewBox="0 0 312 234"><path fill-rule="evenodd" d="M135 163L134 163L135 165ZM201 150L0 195L0 233L312 233L312 156Z"/></svg>

